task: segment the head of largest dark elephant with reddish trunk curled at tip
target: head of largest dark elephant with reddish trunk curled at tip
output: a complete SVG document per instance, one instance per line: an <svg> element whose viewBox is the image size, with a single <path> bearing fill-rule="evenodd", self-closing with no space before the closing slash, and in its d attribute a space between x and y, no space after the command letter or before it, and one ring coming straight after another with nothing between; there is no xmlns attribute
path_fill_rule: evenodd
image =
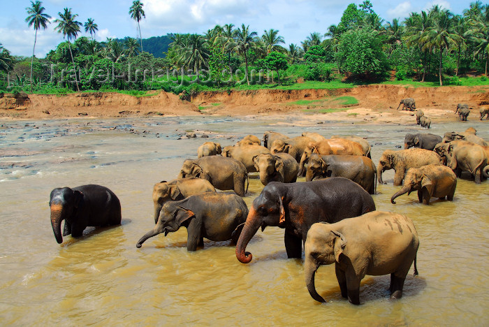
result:
<svg viewBox="0 0 489 327"><path fill-rule="evenodd" d="M263 231L266 226L285 226L284 190L280 189L280 185L277 182L269 183L253 201L245 227L242 229L236 244L236 258L241 263L249 263L253 258L251 253L245 252L245 250L258 228L261 227L261 231Z"/></svg>

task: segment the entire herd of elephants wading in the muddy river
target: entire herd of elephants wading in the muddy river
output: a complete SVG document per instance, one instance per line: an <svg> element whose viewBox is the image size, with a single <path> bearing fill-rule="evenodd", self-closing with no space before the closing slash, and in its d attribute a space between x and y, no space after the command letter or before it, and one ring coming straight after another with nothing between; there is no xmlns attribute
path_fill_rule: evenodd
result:
<svg viewBox="0 0 489 327"><path fill-rule="evenodd" d="M414 102L403 104L413 109ZM472 128L447 132L443 138L407 134L404 150L385 150L377 166L370 149L357 136L302 133L289 138L273 131L265 132L263 139L249 135L224 148L205 142L198 147L197 159L183 162L175 180L154 185L155 226L136 247L184 226L189 251L202 247L204 238L231 240L238 261L249 263L252 255L246 247L258 228L278 226L285 230L289 258L301 258L304 246L305 283L314 300L324 302L314 286L316 270L332 263L342 297L349 302L360 303L365 275L390 274L391 298L401 298L413 263L414 275L418 273L418 233L408 217L376 211L372 194L377 181L384 183L382 173L395 170L394 184L402 187L392 203L411 191L417 191L425 205L430 198L452 201L462 172L472 174L476 183L489 177L489 141ZM249 173L258 173L264 185L250 208L242 199ZM296 182L298 176L306 181ZM101 185L53 189L50 210L58 243L66 235L80 237L87 226L121 223L119 199Z"/></svg>

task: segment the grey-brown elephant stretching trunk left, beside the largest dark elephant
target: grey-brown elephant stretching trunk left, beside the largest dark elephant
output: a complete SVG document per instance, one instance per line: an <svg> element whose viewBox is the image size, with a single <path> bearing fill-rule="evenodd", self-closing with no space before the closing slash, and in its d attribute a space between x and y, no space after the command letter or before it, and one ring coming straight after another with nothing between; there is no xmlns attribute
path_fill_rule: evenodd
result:
<svg viewBox="0 0 489 327"><path fill-rule="evenodd" d="M158 223L147 232L136 247L159 233L187 228L187 251L196 251L204 245L204 238L212 241L232 240L236 244L248 215L245 201L235 194L203 193L181 201L169 201L163 205Z"/></svg>

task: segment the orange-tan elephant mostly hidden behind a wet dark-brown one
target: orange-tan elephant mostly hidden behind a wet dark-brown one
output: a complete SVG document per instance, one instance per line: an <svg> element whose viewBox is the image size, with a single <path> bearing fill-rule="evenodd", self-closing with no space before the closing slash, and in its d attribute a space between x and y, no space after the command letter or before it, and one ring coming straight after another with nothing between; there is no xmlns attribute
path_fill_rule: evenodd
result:
<svg viewBox="0 0 489 327"><path fill-rule="evenodd" d="M309 143L300 157L299 175L305 171L305 165L309 161L311 154L344 154L363 156L363 147L352 140L345 138L330 138L321 142Z"/></svg>

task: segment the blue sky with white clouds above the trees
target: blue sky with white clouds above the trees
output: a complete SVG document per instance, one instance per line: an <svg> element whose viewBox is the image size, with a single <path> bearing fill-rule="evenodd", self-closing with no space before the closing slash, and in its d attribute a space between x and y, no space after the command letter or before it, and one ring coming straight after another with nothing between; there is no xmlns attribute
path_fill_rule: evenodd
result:
<svg viewBox="0 0 489 327"><path fill-rule="evenodd" d="M199 33L212 29L216 24L233 23L240 27L249 25L259 36L265 29L278 29L286 45L300 45L309 33L325 33L331 24L340 22L349 3L363 1L328 0L142 0L146 18L140 23L143 38L168 33ZM371 0L374 11L386 22L393 18L404 19L412 11L427 10L434 4L462 14L471 1L462 0ZM96 39L107 37L136 37L136 22L129 17L131 0L44 0L45 13L58 18L63 8L72 8L82 23L87 18L98 24ZM1 0L0 43L11 54L31 56L34 29L27 27L25 8L31 5L25 0ZM63 36L54 31L55 24L40 30L36 43L36 57L56 48ZM82 30L80 36L86 35Z"/></svg>

